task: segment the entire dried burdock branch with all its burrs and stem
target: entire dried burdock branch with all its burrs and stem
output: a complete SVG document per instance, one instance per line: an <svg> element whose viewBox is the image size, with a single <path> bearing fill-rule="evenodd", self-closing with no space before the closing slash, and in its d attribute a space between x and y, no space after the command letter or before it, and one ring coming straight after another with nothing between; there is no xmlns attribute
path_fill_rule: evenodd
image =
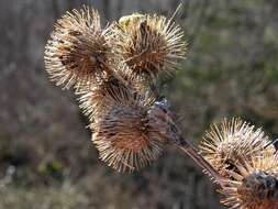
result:
<svg viewBox="0 0 278 209"><path fill-rule="evenodd" d="M167 100L158 100L159 75L171 75L185 54L184 32L173 18L134 13L102 28L98 12L84 7L57 21L45 66L57 86L74 87L92 143L111 167L140 169L171 144L220 185L224 205L277 209L277 142L271 146L262 129L225 119L198 151L182 138Z"/></svg>

